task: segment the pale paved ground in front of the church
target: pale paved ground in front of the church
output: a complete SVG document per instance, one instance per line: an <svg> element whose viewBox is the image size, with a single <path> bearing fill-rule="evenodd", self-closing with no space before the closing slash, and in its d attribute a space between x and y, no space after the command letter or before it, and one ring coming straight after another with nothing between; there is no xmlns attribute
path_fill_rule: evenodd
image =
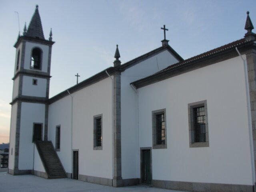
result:
<svg viewBox="0 0 256 192"><path fill-rule="evenodd" d="M148 186L130 186L114 188L82 182L73 179L44 179L34 175L12 176L0 172L0 192L180 192L152 188Z"/></svg>

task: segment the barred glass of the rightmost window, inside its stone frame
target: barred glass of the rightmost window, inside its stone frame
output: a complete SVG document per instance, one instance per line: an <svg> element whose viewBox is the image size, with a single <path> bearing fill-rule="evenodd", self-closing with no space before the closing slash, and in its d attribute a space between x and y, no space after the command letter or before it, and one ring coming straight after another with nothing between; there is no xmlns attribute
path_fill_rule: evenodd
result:
<svg viewBox="0 0 256 192"><path fill-rule="evenodd" d="M194 108L194 142L206 141L204 106Z"/></svg>

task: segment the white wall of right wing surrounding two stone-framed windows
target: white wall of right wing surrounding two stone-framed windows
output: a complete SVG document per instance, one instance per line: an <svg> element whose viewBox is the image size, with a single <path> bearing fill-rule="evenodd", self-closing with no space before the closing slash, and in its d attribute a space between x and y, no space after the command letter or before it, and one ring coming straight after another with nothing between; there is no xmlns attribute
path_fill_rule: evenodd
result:
<svg viewBox="0 0 256 192"><path fill-rule="evenodd" d="M152 178L253 185L243 63L239 57L138 89L140 147L152 147L152 111L166 108L167 149ZM209 147L190 148L188 104L207 100Z"/></svg>

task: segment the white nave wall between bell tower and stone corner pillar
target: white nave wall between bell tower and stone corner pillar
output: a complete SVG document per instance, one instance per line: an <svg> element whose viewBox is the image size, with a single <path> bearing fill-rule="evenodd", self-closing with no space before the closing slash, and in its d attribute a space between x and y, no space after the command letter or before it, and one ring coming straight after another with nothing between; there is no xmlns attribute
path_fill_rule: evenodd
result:
<svg viewBox="0 0 256 192"><path fill-rule="evenodd" d="M72 173L72 152L78 150L78 174L112 179L112 80L106 78L49 106L48 139L55 146L56 126L60 125L58 156L66 170ZM102 150L93 150L94 116L102 114ZM71 144L73 135L73 144ZM71 148L72 146L72 148Z"/></svg>

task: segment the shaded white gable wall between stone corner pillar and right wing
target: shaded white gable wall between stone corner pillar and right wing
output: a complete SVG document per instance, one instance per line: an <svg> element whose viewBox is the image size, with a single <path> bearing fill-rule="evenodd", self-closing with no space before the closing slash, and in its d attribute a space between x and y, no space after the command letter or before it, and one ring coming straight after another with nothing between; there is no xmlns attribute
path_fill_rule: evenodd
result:
<svg viewBox="0 0 256 192"><path fill-rule="evenodd" d="M121 142L122 178L139 177L138 105L130 82L144 78L178 62L167 50L122 72L121 75Z"/></svg>

